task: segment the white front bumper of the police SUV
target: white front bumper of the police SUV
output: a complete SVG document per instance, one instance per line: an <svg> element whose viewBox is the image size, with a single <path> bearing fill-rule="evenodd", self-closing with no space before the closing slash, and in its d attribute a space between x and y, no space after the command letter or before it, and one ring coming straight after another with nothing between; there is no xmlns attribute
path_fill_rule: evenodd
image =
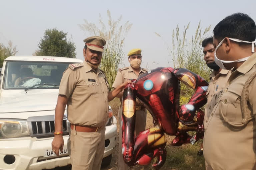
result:
<svg viewBox="0 0 256 170"><path fill-rule="evenodd" d="M67 148L68 136L63 136L64 148ZM52 156L44 158L46 150L51 150L53 138L15 138L13 140L0 140L0 169L1 170L42 170L51 169L58 166L71 164L68 154L60 157ZM116 118L114 125L107 126L105 131L105 151L106 157L114 152L117 144ZM7 164L8 156L15 157L14 163ZM9 156L10 158L10 156Z"/></svg>

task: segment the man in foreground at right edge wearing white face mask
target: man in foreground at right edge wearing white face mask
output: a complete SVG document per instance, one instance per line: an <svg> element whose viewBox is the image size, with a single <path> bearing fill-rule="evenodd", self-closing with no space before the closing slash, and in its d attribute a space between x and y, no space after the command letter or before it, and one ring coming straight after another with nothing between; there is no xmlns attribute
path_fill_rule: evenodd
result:
<svg viewBox="0 0 256 170"><path fill-rule="evenodd" d="M206 170L256 169L256 26L246 14L236 13L213 30L215 62L233 68L224 89L210 102L204 122Z"/></svg>

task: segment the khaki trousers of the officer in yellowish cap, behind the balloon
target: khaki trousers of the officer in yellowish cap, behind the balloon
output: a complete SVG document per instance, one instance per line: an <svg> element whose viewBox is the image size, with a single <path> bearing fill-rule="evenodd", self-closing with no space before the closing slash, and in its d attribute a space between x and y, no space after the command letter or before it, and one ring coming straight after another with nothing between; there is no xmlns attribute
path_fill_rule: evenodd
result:
<svg viewBox="0 0 256 170"><path fill-rule="evenodd" d="M122 111L121 111L121 108L119 107L119 110L118 110L118 118L119 118L118 170L128 170L129 166L124 162L123 153L122 153L121 117L122 117ZM136 135L139 134L139 132L145 130L145 128L146 128L146 119L147 119L146 109L136 110L136 120L135 120Z"/></svg>

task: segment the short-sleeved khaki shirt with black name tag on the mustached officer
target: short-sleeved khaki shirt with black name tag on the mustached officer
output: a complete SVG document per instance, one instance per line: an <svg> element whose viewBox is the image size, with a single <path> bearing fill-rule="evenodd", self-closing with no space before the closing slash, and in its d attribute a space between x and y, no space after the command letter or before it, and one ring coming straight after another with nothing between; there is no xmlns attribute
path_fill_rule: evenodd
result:
<svg viewBox="0 0 256 170"><path fill-rule="evenodd" d="M104 73L94 71L86 61L63 73L59 95L68 98L67 114L71 124L102 127L108 118L108 87Z"/></svg>

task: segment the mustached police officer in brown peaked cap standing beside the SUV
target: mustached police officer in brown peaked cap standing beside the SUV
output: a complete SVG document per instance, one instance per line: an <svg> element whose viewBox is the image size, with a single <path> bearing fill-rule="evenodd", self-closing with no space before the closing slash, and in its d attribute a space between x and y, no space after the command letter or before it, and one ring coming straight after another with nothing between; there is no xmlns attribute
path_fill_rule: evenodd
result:
<svg viewBox="0 0 256 170"><path fill-rule="evenodd" d="M99 170L105 149L105 123L108 118L108 102L128 82L120 84L109 92L109 84L102 70L98 68L106 41L98 36L84 40L85 61L70 64L63 73L55 109L55 136L52 150L59 155L64 141L62 120L67 105L70 122L68 152L72 170Z"/></svg>

